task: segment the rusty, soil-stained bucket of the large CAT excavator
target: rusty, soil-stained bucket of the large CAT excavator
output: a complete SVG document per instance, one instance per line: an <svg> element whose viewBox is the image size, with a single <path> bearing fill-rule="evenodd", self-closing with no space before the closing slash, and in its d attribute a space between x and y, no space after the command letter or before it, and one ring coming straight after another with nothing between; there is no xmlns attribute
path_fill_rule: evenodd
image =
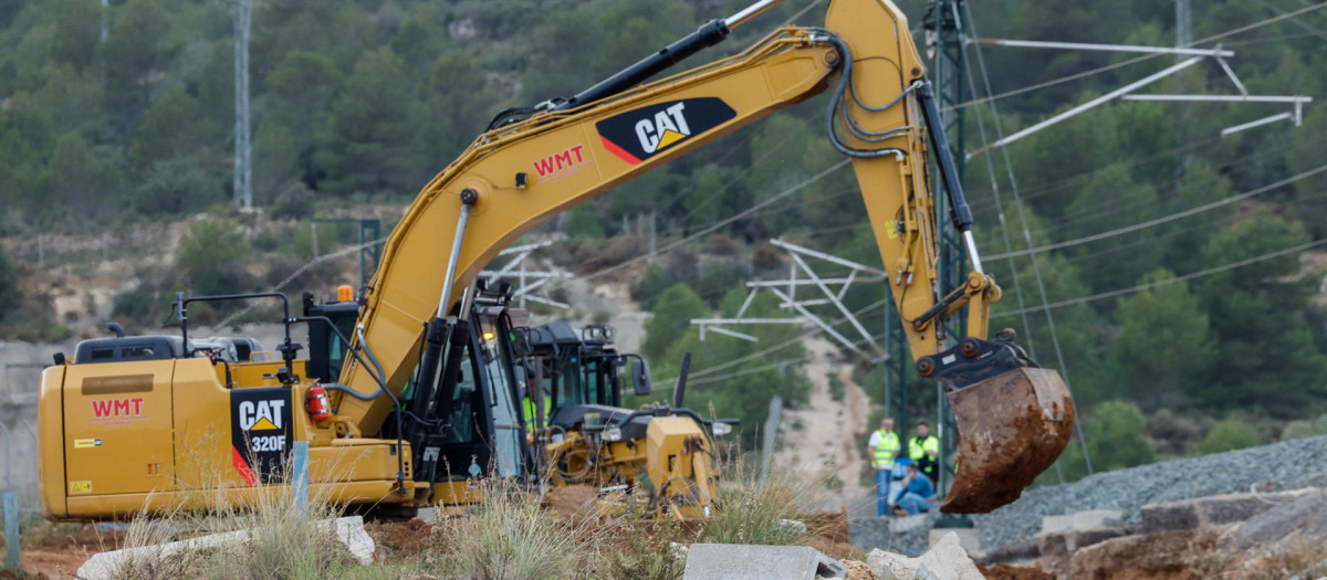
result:
<svg viewBox="0 0 1327 580"><path fill-rule="evenodd" d="M986 514L1013 503L1055 462L1074 430L1060 373L1015 368L949 393L958 421L958 474L940 511Z"/></svg>

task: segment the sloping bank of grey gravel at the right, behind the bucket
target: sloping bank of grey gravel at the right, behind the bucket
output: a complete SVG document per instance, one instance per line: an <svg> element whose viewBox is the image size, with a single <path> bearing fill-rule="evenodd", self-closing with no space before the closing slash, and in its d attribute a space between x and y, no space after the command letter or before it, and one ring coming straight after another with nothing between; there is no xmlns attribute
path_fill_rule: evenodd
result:
<svg viewBox="0 0 1327 580"><path fill-rule="evenodd" d="M1084 510L1120 510L1140 523L1139 507L1208 495L1327 487L1327 436L1285 441L1192 459L1097 473L1082 481L1028 490L1019 501L990 514L974 515L982 548L1024 543L1042 531L1042 518ZM932 518L936 518L934 515ZM885 518L864 515L852 522L852 543L864 551L889 550L916 556L926 551L930 520L892 534Z"/></svg>

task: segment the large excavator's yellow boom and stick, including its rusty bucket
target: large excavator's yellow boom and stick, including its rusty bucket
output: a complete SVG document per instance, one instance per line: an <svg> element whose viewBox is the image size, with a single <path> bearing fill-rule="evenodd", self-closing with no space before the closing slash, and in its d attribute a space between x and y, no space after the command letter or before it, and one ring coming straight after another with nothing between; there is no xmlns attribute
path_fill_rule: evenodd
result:
<svg viewBox="0 0 1327 580"><path fill-rule="evenodd" d="M334 393L338 421L346 424L342 432L381 433L393 403L373 395L380 379L399 393L417 365L426 369L421 376L437 372L438 360L427 352L441 348L445 332L434 330L445 327L453 311L464 315L456 303L479 270L518 237L679 155L829 90L828 138L853 160L918 369L946 381L951 399L969 393L979 414L989 413L983 407L999 407L995 401L1014 409L979 422L965 417L970 405L955 403L963 437L955 489L965 479L981 483L961 490L962 497L951 493L943 508L989 511L1015 499L1063 450L1072 407L1054 371L1030 368L1035 365L1011 343L986 340L987 307L999 298L999 287L981 271L947 148L932 143L974 266L965 287L950 295L937 291L938 228L928 139L943 134L926 130L940 127L938 113L897 7L888 0L833 0L824 28L783 28L730 58L640 83L638 77L722 40L731 26L771 4L766 0L727 21L710 23L690 40L628 69L625 77L545 103L523 121L495 123L434 177L389 237L365 291L357 343L370 347L384 372L377 377L356 359L346 362L341 380L358 396ZM942 320L965 307L969 338L962 348L946 350ZM993 360L1003 365L993 367ZM1027 379L1034 371L1042 373L1040 383ZM1003 377L1003 387L987 389L995 376ZM1001 428L1014 429L1019 445L987 441ZM981 442L969 445L969 438ZM1035 441L1024 445L1024 440ZM999 467L982 471L983 463ZM1020 469L1016 477L1003 477L1010 473L1006 463ZM998 499L983 499L990 497Z"/></svg>

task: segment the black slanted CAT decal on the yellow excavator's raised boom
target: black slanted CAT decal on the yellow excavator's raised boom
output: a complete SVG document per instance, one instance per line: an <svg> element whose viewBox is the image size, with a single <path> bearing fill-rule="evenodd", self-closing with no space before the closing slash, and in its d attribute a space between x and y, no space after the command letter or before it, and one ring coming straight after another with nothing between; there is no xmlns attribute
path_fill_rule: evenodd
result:
<svg viewBox="0 0 1327 580"><path fill-rule="evenodd" d="M630 110L594 123L594 128L605 148L634 166L736 115L718 97L699 97Z"/></svg>

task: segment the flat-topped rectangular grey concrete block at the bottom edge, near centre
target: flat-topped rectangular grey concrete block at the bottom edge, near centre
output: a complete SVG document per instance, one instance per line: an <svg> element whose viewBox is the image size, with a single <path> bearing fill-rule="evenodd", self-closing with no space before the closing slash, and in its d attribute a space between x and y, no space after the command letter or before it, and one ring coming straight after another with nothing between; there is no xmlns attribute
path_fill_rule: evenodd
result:
<svg viewBox="0 0 1327 580"><path fill-rule="evenodd" d="M805 546L691 544L682 580L813 580L848 568Z"/></svg>

